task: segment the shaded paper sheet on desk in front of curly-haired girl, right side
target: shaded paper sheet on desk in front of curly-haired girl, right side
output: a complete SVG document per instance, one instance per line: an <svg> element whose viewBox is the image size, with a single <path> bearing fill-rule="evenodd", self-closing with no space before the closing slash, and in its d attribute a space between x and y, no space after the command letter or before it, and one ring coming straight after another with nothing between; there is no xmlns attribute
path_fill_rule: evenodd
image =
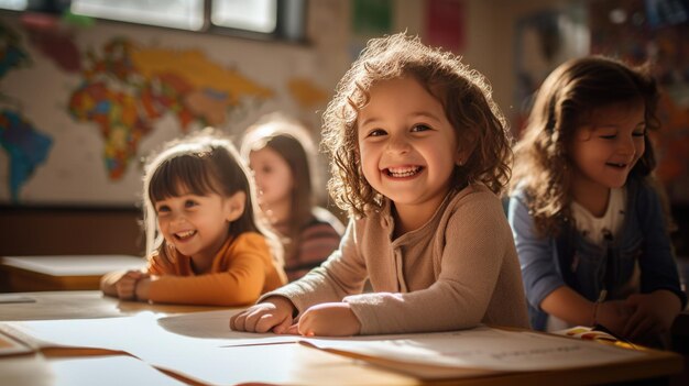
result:
<svg viewBox="0 0 689 386"><path fill-rule="evenodd" d="M634 360L643 352L527 331L479 327L407 335L303 339L318 349L387 360L391 365L422 364L492 371L549 371Z"/></svg>

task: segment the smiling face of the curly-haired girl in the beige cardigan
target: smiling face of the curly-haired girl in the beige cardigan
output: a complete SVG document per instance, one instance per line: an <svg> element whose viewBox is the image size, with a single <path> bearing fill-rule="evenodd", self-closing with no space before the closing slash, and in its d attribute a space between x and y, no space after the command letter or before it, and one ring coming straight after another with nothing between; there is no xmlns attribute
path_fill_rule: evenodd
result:
<svg viewBox="0 0 689 386"><path fill-rule="evenodd" d="M357 130L369 184L398 211L435 211L461 161L440 101L412 76L376 82L359 111Z"/></svg>

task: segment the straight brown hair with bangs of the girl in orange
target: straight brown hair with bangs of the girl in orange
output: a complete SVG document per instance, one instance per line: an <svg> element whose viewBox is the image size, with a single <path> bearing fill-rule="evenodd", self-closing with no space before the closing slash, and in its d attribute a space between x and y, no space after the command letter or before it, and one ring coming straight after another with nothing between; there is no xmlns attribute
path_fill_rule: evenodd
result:
<svg viewBox="0 0 689 386"><path fill-rule="evenodd" d="M157 229L155 202L190 192L231 197L247 194L244 212L230 223L228 236L244 232L263 234L282 266L282 246L256 207L255 188L250 172L229 139L211 129L174 140L150 158L144 169L143 202L146 255L155 250L165 253L165 240Z"/></svg>

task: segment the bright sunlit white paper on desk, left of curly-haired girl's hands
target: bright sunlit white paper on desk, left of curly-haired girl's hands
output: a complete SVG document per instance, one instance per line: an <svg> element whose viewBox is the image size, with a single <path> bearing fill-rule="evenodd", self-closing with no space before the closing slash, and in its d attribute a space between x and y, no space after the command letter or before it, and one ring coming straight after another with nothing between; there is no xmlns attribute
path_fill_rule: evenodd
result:
<svg viewBox="0 0 689 386"><path fill-rule="evenodd" d="M298 337L231 331L229 319L234 312L238 310L175 317L143 312L122 318L18 321L0 323L0 331L39 348L123 351L151 366L211 385L291 379L291 374L299 371L299 364L289 355L296 345L277 344L267 351L255 345L294 343Z"/></svg>

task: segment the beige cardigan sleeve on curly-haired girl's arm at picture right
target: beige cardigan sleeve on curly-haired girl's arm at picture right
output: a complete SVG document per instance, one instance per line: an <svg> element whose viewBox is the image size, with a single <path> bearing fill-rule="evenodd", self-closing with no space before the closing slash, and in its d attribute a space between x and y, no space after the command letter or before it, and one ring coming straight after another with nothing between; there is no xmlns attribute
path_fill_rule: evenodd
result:
<svg viewBox="0 0 689 386"><path fill-rule="evenodd" d="M361 322L361 334L459 330L482 321L526 327L520 267L500 200L488 189L470 190L446 211L450 213L447 222L436 231L444 236L435 252L439 255L425 257L437 272L428 287L395 290L403 282L394 279L393 256L367 260L371 277L380 278L379 288L390 287L343 299ZM371 225L371 232L376 232L375 227ZM368 239L362 245L380 243L371 232L362 235ZM497 289L501 295L494 297Z"/></svg>

